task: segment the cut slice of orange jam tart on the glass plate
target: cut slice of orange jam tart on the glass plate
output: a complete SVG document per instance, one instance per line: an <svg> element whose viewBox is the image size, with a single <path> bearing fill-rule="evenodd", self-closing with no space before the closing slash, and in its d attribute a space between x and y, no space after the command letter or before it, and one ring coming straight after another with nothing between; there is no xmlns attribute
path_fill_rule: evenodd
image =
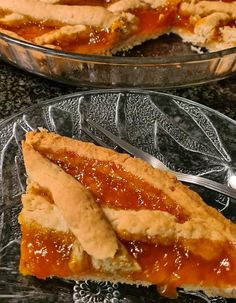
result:
<svg viewBox="0 0 236 303"><path fill-rule="evenodd" d="M167 295L173 295L176 287L184 287L235 296L235 225L172 174L128 155L46 131L28 133L23 154L29 177L19 216L23 274L166 285ZM108 187L104 187L106 183ZM109 186L114 186L117 194L113 191L111 196ZM137 196L141 207L132 198L133 186L140 193L142 186L148 195L146 201L141 194ZM122 196L125 191L128 195ZM153 194L158 203L164 203L162 208L150 204ZM59 238L61 233L72 237L68 259L63 261L67 264L64 272L34 271L37 261L29 256L26 236L31 229L46 237L42 243L52 231ZM175 265L163 267L162 254L166 264ZM228 262L225 270L221 268L223 260ZM189 278L186 273L196 262L197 274ZM222 275L216 274L218 267Z"/></svg>

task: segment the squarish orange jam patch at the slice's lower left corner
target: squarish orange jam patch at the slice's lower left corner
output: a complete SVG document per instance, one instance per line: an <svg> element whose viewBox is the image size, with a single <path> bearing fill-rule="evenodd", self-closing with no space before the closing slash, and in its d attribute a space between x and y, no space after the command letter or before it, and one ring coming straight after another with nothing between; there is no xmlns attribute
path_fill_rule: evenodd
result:
<svg viewBox="0 0 236 303"><path fill-rule="evenodd" d="M70 233L21 225L20 272L44 279L70 275L69 260L74 242Z"/></svg>

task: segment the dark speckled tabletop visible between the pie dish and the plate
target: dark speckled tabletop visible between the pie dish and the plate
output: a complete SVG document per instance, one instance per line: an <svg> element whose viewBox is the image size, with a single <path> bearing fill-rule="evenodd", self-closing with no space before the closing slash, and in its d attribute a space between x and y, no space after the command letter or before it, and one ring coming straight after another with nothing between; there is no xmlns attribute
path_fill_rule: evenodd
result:
<svg viewBox="0 0 236 303"><path fill-rule="evenodd" d="M43 100L79 90L78 87L49 81L0 62L0 121ZM236 120L236 76L165 92L202 103Z"/></svg>

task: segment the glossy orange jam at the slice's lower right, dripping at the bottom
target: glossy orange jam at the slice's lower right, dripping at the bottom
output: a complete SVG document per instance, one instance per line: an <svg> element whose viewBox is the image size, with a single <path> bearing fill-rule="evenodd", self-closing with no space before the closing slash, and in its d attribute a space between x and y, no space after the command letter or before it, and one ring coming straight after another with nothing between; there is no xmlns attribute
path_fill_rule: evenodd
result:
<svg viewBox="0 0 236 303"><path fill-rule="evenodd" d="M199 249L202 249L201 243L201 240L196 242ZM142 267L142 272L133 274L133 278L156 284L163 295L174 296L176 287L183 284L217 288L236 283L235 246L225 244L219 256L209 261L178 244L126 242L124 245Z"/></svg>

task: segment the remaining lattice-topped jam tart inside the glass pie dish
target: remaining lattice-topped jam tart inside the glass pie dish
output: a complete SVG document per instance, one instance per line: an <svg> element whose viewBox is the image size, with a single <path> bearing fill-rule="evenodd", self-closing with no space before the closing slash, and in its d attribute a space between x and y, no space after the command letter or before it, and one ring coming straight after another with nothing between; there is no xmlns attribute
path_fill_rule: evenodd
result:
<svg viewBox="0 0 236 303"><path fill-rule="evenodd" d="M236 46L236 1L0 0L0 32L36 45L112 55L175 33L209 51Z"/></svg>

